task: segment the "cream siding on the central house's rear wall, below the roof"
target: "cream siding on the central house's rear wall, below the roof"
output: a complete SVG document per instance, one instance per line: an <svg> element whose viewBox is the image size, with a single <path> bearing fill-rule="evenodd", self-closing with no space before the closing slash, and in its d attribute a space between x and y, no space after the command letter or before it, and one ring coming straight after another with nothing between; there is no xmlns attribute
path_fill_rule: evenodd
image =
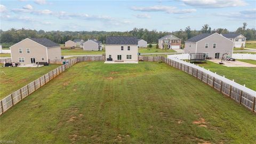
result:
<svg viewBox="0 0 256 144"><path fill-rule="evenodd" d="M121 50L121 46L124 46L124 50ZM130 46L130 51L127 47ZM117 55L122 55L123 61L138 61L138 45L108 45L105 46L106 49L106 60L111 55L113 61L117 60ZM132 55L132 59L126 59L127 55Z"/></svg>

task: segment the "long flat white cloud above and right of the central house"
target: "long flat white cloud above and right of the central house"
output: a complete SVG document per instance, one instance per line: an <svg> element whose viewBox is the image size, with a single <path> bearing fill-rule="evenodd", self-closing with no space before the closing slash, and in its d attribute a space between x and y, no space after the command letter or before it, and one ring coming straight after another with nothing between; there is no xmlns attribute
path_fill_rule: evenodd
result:
<svg viewBox="0 0 256 144"><path fill-rule="evenodd" d="M134 11L142 11L142 12L166 12L166 13L174 13L174 14L184 14L184 13L193 13L196 12L196 9L177 9L174 6L162 6L162 5L155 5L155 6L148 6L148 7L131 7Z"/></svg>

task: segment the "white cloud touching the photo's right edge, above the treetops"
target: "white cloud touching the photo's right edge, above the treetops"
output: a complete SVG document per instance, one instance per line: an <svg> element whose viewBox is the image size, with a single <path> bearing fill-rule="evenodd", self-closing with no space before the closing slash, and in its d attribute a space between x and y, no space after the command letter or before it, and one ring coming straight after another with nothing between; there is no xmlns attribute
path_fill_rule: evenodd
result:
<svg viewBox="0 0 256 144"><path fill-rule="evenodd" d="M217 16L227 17L230 19L255 20L256 9L244 10L239 12L230 12L230 13L217 13Z"/></svg>

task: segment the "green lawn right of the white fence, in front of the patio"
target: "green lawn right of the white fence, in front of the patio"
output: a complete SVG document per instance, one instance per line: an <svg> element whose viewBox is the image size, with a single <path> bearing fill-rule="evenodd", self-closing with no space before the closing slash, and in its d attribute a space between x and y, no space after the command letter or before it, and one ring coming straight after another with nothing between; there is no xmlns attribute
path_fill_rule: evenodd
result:
<svg viewBox="0 0 256 144"><path fill-rule="evenodd" d="M228 79L235 79L235 82L241 85L245 84L246 87L256 91L256 81L253 79L256 77L256 67L226 67L211 61L199 64L199 66L217 72L221 76L225 75Z"/></svg>

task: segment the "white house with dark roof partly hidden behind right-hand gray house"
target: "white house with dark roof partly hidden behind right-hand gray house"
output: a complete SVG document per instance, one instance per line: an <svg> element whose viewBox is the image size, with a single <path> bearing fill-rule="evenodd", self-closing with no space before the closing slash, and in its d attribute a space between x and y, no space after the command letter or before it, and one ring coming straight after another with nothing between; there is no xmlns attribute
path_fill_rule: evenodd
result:
<svg viewBox="0 0 256 144"><path fill-rule="evenodd" d="M242 45L245 47L245 39L241 34L234 34L234 33L229 33L229 34L221 34L222 36L225 36L226 38L230 39L232 42L234 42L234 47L241 47Z"/></svg>

